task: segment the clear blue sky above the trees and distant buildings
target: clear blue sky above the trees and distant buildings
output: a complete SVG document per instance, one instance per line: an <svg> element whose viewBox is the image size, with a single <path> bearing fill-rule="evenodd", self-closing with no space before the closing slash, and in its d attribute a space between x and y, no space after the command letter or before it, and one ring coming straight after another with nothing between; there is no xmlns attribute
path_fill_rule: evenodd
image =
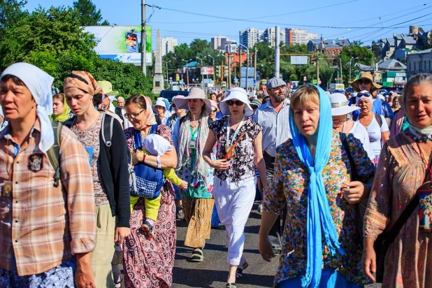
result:
<svg viewBox="0 0 432 288"><path fill-rule="evenodd" d="M26 8L30 11L39 5L48 8L53 2L29 0ZM55 6L71 6L72 3L73 0L57 0ZM141 23L139 0L93 0L93 3L111 24ZM219 34L238 41L240 30L247 27L266 29L276 24L281 30L289 27L307 29L324 38L344 37L365 44L392 37L394 33L408 34L410 25L423 27L425 31L432 29L430 0L146 0L146 3L161 7L160 10L147 7L147 17L154 12L147 24L152 25L154 31L161 29L162 37L178 38L179 44L190 43L194 38L210 41L212 36Z"/></svg>

